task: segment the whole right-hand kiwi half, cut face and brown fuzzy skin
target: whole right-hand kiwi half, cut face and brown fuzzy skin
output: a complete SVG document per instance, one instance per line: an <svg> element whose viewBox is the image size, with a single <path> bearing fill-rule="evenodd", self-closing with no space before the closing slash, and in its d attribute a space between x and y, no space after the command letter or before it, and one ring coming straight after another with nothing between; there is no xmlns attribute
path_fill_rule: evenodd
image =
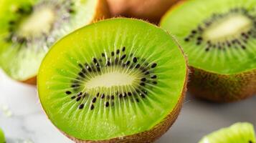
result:
<svg viewBox="0 0 256 143"><path fill-rule="evenodd" d="M214 102L255 94L255 17L255 0L183 1L163 16L189 57L192 94Z"/></svg>

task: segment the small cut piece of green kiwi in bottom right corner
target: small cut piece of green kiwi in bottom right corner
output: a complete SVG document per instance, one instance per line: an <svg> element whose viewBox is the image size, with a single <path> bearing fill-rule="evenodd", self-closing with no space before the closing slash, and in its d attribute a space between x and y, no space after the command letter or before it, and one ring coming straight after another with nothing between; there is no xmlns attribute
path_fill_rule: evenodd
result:
<svg viewBox="0 0 256 143"><path fill-rule="evenodd" d="M255 131L250 123L236 123L205 136L199 143L255 143Z"/></svg>

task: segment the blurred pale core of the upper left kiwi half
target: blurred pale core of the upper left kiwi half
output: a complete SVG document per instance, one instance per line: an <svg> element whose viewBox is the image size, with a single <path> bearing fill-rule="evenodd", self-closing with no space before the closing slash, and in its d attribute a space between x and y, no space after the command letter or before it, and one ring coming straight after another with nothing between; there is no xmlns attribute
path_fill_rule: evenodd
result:
<svg viewBox="0 0 256 143"><path fill-rule="evenodd" d="M42 7L33 11L25 18L18 29L18 35L24 37L39 37L49 34L55 20L54 9Z"/></svg>

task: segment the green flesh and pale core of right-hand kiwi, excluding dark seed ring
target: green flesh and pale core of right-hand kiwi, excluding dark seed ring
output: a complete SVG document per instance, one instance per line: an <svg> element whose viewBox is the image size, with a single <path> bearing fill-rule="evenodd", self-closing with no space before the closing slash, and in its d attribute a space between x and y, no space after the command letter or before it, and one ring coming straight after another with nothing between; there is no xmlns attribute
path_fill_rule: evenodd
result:
<svg viewBox="0 0 256 143"><path fill-rule="evenodd" d="M202 25L203 21L209 19L212 14L226 14L230 9L242 8L250 11L252 16L256 16L255 6L255 0L185 1L163 16L161 27L176 36L189 57L190 66L217 74L239 74L256 69L255 38L250 38L247 44L244 44L246 49L242 49L240 46L228 47L225 44L224 49L226 50L214 48L209 51L206 51L207 42L198 46L194 39L189 42L184 39L191 34L191 30L196 29L199 24ZM213 41L232 39L253 26L251 19L240 14L234 14L222 20L215 22L214 26L204 31L203 38ZM255 31L253 33L255 34Z"/></svg>

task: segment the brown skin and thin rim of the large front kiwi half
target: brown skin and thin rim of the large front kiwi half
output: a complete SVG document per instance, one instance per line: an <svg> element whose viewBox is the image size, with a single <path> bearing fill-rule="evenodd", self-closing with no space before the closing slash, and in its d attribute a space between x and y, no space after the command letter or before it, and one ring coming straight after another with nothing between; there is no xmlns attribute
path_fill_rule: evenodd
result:
<svg viewBox="0 0 256 143"><path fill-rule="evenodd" d="M120 19L121 20L121 18L114 18L114 19L107 19L105 21L111 21L111 20L115 20L115 19L117 19L117 20ZM134 21L136 19L132 19L132 20ZM101 21L101 22L104 22L104 21ZM88 26L90 26L90 25L88 25ZM88 27L88 26L85 26L85 27ZM79 30L77 30L77 31L79 31ZM74 31L73 33L75 33L75 32L76 31ZM71 34L69 34L69 35L71 35ZM65 36L65 37L67 37L67 36ZM60 40L59 42L62 42L62 40ZM59 42L57 42L55 45L57 45ZM176 44L178 44L175 39L174 39L174 42ZM50 51L53 50L53 49L54 48L50 49ZM181 50L180 46L179 46L179 49ZM182 50L181 50L181 52L183 54ZM49 55L49 53L47 55ZM47 56L44 59L47 59ZM186 59L186 58L184 58L184 59ZM41 65L39 71L44 71L45 70L43 68L43 66L44 66L44 64ZM39 80L37 81L37 84L39 86L39 97L40 97L40 94L42 93L42 91L40 90L40 87L41 87L40 82L42 82L41 81L42 76L40 76L40 75L41 74L39 72ZM69 137L70 139L72 139L75 142L153 142L156 139L158 139L158 137L161 137L161 135L164 134L169 129L169 127L171 127L171 125L175 122L176 118L178 117L179 112L181 110L181 106L182 106L183 101L184 101L184 96L185 96L185 93L186 93L187 77L188 77L188 68L186 67L186 79L185 79L185 82L184 82L184 88L181 91L181 95L179 96L179 99L178 99L175 107L168 114L168 116L166 116L161 122L159 122L152 129L147 130L145 132L140 132L138 134L131 134L131 135L124 136L124 137L116 137L116 138L111 138L111 139L105 139L105 140L85 140L85 139L78 139L76 137L70 136L69 134L66 134L65 132L62 131L62 129L58 128L56 124L54 124L54 126L57 127L60 130L60 132L62 132L63 134L65 134L67 137ZM44 109L44 112L47 114L47 111L44 108L45 106L42 103L42 98L39 98L39 99L40 99L40 102L41 102L42 107ZM49 114L47 114L47 116L49 117ZM50 119L50 117L49 117L49 119Z"/></svg>

